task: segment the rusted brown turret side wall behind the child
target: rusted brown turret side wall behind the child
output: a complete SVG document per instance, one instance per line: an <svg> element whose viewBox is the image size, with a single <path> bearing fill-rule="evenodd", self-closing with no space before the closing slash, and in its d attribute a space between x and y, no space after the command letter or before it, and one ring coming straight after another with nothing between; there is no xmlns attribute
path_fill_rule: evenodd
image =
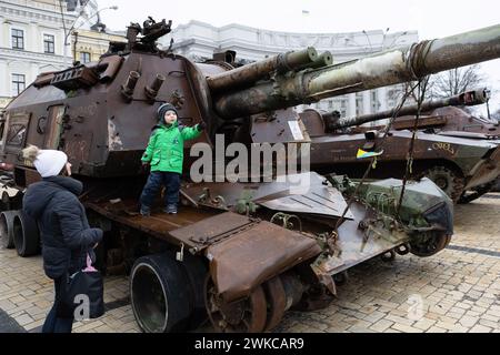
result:
<svg viewBox="0 0 500 355"><path fill-rule="evenodd" d="M96 72L98 81L92 87L78 87L78 78L61 79L67 80L68 85L71 83L78 87L68 97L54 85L30 85L9 105L8 112L12 116L29 113L30 119L23 126L26 140L41 148L50 146L69 153L78 175L138 175L140 155L148 143L151 129L157 123L156 111L161 102L170 102L174 98L182 98L178 99L179 102L189 102L189 105L184 104L178 109L179 121L184 125L193 125L202 116L198 105L200 94L192 91L198 84L190 82L193 75L190 71L192 67L192 63L187 63L187 60L179 55L173 59L132 52L127 55L103 57L91 65L91 69L82 67ZM72 73L71 70L58 75ZM130 101L126 101L121 94L121 85L130 72L138 70L141 74L137 78L133 90L128 93ZM156 101L151 103L146 89L160 73L166 75L167 80L159 89ZM201 103L207 106L206 102L200 101ZM48 111L53 111L53 106L63 108L66 114L66 122L59 124L58 132L54 131L57 123L48 120ZM49 129L54 132L51 139L54 143L44 143L47 133L41 124L47 126L47 132ZM198 140L187 142L186 149L204 140L207 135L203 133ZM23 145L19 145L16 152L8 152L4 160L19 163L17 155L22 148ZM186 161L188 163L188 159Z"/></svg>

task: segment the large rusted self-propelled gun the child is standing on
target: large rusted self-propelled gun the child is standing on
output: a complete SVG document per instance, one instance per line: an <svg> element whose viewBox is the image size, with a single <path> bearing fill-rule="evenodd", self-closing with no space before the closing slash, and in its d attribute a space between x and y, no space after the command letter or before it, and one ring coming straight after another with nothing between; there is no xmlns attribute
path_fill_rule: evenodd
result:
<svg viewBox="0 0 500 355"><path fill-rule="evenodd" d="M311 139L292 106L498 58L499 26L324 68L317 68L312 48L236 69L193 63L157 49L154 40L169 31L164 20L132 24L128 43L111 42L98 62L41 74L7 108L1 148L21 190L40 179L20 155L27 144L68 153L91 224L106 231L101 267L130 273L131 306L143 331L182 331L207 316L218 331L272 329L291 307L326 306L336 293L332 275L378 255L429 256L447 245L450 200L430 181L406 185L396 204L400 181L353 192L347 178L294 172L292 150L287 174L272 171L278 159L252 164L259 169L251 182L244 163L237 181L224 172L238 148L257 143L299 145L304 165ZM208 128L186 145L179 213L158 205L141 216L140 158L162 102L177 106L182 124L202 120ZM216 153L227 146L230 158L210 155L201 171L207 179L190 181L190 169L200 168L188 152L204 146ZM342 192L354 194L352 204ZM0 226L16 233L18 252L28 255L37 248L33 221L10 214L17 227L1 216Z"/></svg>

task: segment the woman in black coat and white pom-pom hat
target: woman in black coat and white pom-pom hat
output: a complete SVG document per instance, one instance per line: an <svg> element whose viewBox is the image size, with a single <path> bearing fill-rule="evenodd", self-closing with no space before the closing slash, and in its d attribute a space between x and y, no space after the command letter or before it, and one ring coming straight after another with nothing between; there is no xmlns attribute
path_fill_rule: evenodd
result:
<svg viewBox="0 0 500 355"><path fill-rule="evenodd" d="M71 164L63 152L31 145L23 150L23 156L33 163L42 181L28 187L22 210L38 222L43 268L56 288L42 333L71 333L74 317L58 314L61 287L69 275L86 266L87 255L96 260L93 247L101 241L102 230L89 226L86 210L78 200L82 183L69 178Z"/></svg>

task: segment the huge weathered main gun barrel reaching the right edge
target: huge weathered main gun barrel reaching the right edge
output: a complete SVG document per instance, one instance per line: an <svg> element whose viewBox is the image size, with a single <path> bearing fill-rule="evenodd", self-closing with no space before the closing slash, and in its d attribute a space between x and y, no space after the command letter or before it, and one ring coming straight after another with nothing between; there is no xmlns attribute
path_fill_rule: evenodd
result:
<svg viewBox="0 0 500 355"><path fill-rule="evenodd" d="M277 75L272 82L216 95L214 108L224 119L247 116L413 81L428 74L499 57L500 24L497 24L326 68Z"/></svg>

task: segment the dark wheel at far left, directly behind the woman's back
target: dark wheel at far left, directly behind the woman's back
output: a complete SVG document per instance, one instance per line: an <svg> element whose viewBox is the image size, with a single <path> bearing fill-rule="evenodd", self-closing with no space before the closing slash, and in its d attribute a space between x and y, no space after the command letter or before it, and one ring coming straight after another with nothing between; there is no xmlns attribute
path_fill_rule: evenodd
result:
<svg viewBox="0 0 500 355"><path fill-rule="evenodd" d="M37 222L18 211L12 221L13 240L19 256L26 257L40 252L40 235Z"/></svg>

